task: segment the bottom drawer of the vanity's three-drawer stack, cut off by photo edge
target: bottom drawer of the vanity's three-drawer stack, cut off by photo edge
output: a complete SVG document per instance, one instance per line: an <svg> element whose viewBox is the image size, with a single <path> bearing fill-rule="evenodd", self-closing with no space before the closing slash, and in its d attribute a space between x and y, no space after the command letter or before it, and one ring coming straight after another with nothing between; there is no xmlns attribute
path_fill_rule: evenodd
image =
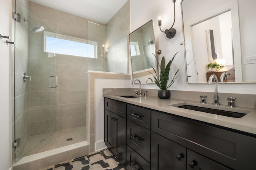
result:
<svg viewBox="0 0 256 170"><path fill-rule="evenodd" d="M127 170L150 170L150 163L142 156L126 145L126 169Z"/></svg>

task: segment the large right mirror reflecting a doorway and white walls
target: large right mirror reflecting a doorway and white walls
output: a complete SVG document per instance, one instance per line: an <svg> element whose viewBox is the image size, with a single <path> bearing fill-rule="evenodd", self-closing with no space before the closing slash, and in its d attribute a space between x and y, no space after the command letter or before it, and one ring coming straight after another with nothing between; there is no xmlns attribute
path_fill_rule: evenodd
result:
<svg viewBox="0 0 256 170"><path fill-rule="evenodd" d="M256 37L254 27L250 25L252 20L256 21L256 13L247 12L256 3L248 1L246 3L249 4L244 5L238 1L181 1L188 83L208 83L211 74L215 74L220 81L223 72L228 74L225 83L256 82L256 76L250 75L256 71L256 62L250 62L251 58L256 58L256 51L243 45L248 35ZM221 66L219 70L207 67L215 62Z"/></svg>

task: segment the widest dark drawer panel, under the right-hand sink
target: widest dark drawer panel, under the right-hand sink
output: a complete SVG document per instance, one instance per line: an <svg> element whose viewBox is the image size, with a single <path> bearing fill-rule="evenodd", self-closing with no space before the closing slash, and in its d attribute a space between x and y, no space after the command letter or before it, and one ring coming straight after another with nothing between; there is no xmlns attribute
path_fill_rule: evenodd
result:
<svg viewBox="0 0 256 170"><path fill-rule="evenodd" d="M256 169L255 137L157 111L151 124L153 132L230 168Z"/></svg>

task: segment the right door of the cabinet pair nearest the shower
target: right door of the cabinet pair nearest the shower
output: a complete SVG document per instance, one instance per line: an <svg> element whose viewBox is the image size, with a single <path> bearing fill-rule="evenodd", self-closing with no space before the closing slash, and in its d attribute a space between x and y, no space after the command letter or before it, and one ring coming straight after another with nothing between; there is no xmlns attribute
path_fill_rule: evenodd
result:
<svg viewBox="0 0 256 170"><path fill-rule="evenodd" d="M114 114L114 154L126 166L126 119Z"/></svg>

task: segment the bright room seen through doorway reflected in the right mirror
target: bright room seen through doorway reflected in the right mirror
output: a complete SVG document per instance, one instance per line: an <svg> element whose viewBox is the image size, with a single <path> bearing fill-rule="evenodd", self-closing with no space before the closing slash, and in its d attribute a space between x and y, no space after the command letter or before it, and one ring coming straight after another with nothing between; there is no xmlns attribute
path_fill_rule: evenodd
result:
<svg viewBox="0 0 256 170"><path fill-rule="evenodd" d="M194 58L199 65L196 67L198 81L208 82L212 74L216 74L220 81L222 72L234 70L230 10L192 25L191 32ZM218 67L208 68L209 63L217 63ZM226 81L235 81L235 76Z"/></svg>

